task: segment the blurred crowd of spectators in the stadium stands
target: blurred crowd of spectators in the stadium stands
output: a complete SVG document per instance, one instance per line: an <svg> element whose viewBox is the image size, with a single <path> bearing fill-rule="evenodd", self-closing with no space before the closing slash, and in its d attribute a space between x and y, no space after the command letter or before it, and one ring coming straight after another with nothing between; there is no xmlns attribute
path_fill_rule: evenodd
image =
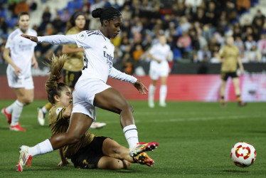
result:
<svg viewBox="0 0 266 178"><path fill-rule="evenodd" d="M42 0L43 2L48 0ZM147 51L156 36L164 33L174 61L186 59L191 63L219 63L215 57L224 37L235 38L243 63L266 63L266 19L260 9L252 21L240 24L240 16L258 0L77 0L69 1L65 9L55 13L49 6L43 11L40 26L33 26L38 36L65 33L66 22L75 11L86 16L85 29L96 30L100 22L91 17L95 8L115 6L122 13L124 25L115 45L114 63L121 63L125 73L134 73L134 68L149 63ZM121 1L119 1L121 2ZM34 0L0 0L0 63L4 63L3 51L6 38L16 27L16 16L21 11L35 11ZM60 55L61 46L38 44L36 57L50 58L52 53Z"/></svg>

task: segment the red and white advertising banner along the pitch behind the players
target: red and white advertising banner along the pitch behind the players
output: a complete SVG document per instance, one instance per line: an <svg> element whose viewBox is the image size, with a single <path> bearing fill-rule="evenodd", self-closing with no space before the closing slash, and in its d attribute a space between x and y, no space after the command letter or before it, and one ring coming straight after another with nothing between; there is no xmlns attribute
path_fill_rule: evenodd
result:
<svg viewBox="0 0 266 178"><path fill-rule="evenodd" d="M48 76L33 77L34 97L46 99L44 83ZM151 79L149 76L137 77L149 88ZM0 76L0 99L14 99L14 90L9 88L6 76ZM128 100L147 100L148 95L140 94L132 84L109 78L108 85L119 90ZM167 80L167 97L171 101L206 101L216 102L220 100L220 75L169 75ZM252 74L240 76L241 96L245 102L266 101L266 74ZM160 81L155 92L155 100L159 100ZM225 87L225 100L235 101L235 88L229 78Z"/></svg>

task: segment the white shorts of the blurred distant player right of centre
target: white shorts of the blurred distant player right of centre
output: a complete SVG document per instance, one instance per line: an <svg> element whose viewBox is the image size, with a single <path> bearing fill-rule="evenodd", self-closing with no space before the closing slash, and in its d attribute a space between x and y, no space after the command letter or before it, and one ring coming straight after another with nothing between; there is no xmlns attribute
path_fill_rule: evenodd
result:
<svg viewBox="0 0 266 178"><path fill-rule="evenodd" d="M169 75L169 64L167 62L157 63L151 61L149 68L149 76L151 80L158 80L159 77L167 77Z"/></svg>

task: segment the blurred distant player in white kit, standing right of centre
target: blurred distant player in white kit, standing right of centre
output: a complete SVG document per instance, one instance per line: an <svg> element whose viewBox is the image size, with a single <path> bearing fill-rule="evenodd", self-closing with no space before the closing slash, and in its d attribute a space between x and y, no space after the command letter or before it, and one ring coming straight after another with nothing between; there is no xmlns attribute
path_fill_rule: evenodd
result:
<svg viewBox="0 0 266 178"><path fill-rule="evenodd" d="M154 93L159 78L161 78L159 106L166 107L166 81L170 71L168 61L172 60L169 53L171 53L171 48L166 44L166 37L160 35L159 43L151 46L151 50L149 51L149 58L151 58L149 67L149 76L151 78L151 84L149 85L149 108L154 108Z"/></svg>

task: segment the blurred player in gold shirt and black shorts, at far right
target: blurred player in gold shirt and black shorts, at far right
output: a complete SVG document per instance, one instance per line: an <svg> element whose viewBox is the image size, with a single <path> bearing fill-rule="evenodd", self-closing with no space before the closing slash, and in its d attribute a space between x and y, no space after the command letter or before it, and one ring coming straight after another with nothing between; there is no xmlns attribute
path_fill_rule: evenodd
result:
<svg viewBox="0 0 266 178"><path fill-rule="evenodd" d="M233 36L228 36L226 38L226 44L223 48L220 49L220 53L218 55L218 59L222 63L220 69L220 77L223 80L222 85L220 87L220 99L221 104L225 107L225 85L226 80L231 77L233 80L233 85L235 86L235 95L238 98L238 105L244 106L246 103L243 103L241 100L241 92L240 92L240 83L238 74L236 73L238 69L238 65L240 67L240 72L244 73L243 63L240 59L238 46L234 46Z"/></svg>

